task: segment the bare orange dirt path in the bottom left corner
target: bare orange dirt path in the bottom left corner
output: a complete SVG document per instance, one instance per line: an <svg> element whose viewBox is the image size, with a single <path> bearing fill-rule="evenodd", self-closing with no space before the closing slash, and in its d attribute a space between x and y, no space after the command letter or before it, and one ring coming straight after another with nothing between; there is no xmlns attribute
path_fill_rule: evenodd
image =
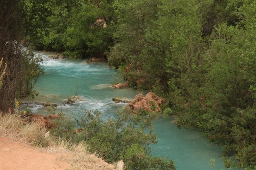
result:
<svg viewBox="0 0 256 170"><path fill-rule="evenodd" d="M21 141L0 137L0 170L66 170L61 154L39 151Z"/></svg>

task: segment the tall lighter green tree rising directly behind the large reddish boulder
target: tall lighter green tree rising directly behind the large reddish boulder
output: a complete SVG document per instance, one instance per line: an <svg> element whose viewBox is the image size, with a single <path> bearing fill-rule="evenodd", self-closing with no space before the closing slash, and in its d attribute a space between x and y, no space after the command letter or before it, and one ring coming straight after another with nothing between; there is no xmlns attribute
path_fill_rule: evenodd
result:
<svg viewBox="0 0 256 170"><path fill-rule="evenodd" d="M138 60L148 83L174 84L185 93L183 77L192 77L200 65L201 19L197 1L161 1L158 20L146 33L147 48ZM193 77L194 78L194 77Z"/></svg>

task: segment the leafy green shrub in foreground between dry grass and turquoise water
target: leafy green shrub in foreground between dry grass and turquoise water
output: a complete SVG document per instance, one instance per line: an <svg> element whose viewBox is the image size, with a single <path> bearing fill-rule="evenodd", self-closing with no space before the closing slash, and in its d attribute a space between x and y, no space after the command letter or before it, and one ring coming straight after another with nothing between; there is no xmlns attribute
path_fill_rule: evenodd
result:
<svg viewBox="0 0 256 170"><path fill-rule="evenodd" d="M78 133L74 124L66 121L60 121L53 133L74 143L86 141L91 152L109 163L123 160L127 170L175 170L173 161L150 155L149 145L156 143L151 124L154 117L119 113L116 120L105 121L98 110L85 111L85 117L76 120Z"/></svg>

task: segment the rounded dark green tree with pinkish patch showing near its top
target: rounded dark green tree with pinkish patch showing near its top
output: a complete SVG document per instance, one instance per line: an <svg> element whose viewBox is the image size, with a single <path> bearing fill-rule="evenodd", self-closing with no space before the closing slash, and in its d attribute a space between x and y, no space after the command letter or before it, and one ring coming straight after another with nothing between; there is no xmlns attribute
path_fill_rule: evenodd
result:
<svg viewBox="0 0 256 170"><path fill-rule="evenodd" d="M83 4L71 17L71 24L64 33L65 49L70 57L102 57L112 44L115 16L110 7L112 1ZM108 10L106 10L109 9ZM81 20L76 20L81 18ZM74 53L72 56L72 53Z"/></svg>

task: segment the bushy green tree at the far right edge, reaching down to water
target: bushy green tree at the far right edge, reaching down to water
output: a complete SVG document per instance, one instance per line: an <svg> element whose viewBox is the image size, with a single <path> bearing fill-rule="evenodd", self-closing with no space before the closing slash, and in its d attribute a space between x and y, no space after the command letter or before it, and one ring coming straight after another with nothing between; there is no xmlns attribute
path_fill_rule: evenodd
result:
<svg viewBox="0 0 256 170"><path fill-rule="evenodd" d="M229 6L234 7L234 2ZM209 140L225 144L226 165L255 167L255 2L244 1L232 11L236 26L227 22L215 26L211 45L204 53L203 83L197 98L182 108L178 124L195 126ZM193 92L193 91L192 91ZM234 153L236 161L227 159Z"/></svg>

